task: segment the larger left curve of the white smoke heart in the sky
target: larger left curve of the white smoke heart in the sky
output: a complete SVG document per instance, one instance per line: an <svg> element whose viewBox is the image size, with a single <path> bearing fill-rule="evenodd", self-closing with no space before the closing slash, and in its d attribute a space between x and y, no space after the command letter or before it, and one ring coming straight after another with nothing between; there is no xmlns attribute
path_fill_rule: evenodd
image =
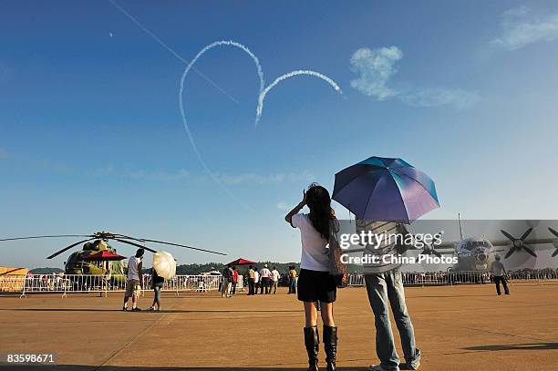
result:
<svg viewBox="0 0 558 371"><path fill-rule="evenodd" d="M202 154L200 153L200 151L198 150L198 146L196 146L196 142L193 139L193 136L191 135L191 130L190 130L190 126L188 125L188 120L186 119L186 112L184 109L184 99L182 98L183 96L183 92L184 92L184 82L186 77L188 76L188 73L190 72L190 70L193 68L193 65L196 63L196 61L202 57L202 55L207 52L208 50L212 49L213 47L217 47L217 46L234 46L234 47L238 47L241 50L243 50L246 54L248 54L248 56L250 56L253 59L253 63L256 65L256 68L258 70L258 77L260 77L260 92L263 91L263 87L265 86L265 81L263 80L263 71L262 71L262 66L260 65L260 61L258 60L258 57L256 57L252 51L250 51L250 49L246 46L243 46L240 43L237 43L235 41L215 41L212 44L205 46L202 48L202 50L200 50L198 52L198 54L196 54L196 57L194 57L191 62L188 64L188 66L186 66L186 68L184 68L184 72L182 73L182 77L181 77L181 89L180 89L180 93L179 93L179 98L180 98L180 102L179 102L179 107L181 109L181 118L182 118L182 124L184 125L184 129L186 129L186 133L188 134L188 138L190 139L190 144L191 144L191 148L193 149L194 153L196 154L196 157L198 158L198 160L200 161L200 163L202 164L202 167L205 171L207 171L207 173L210 175L210 177L212 177L212 180L214 180L217 184L219 184L219 186L222 188L223 191L225 191L229 196L231 196L233 198L234 201L237 201L239 204L241 204L243 207L245 207L246 209L250 210L250 207L248 207L245 203L243 203L243 201L238 200L238 198L236 198L236 196L234 196L233 192L229 191L229 189L227 187L224 186L224 184L222 184L222 181L219 180L219 178L217 178L215 176L215 174L213 174L212 170L209 168L209 166L207 166L207 163L205 162L205 160L203 160Z"/></svg>

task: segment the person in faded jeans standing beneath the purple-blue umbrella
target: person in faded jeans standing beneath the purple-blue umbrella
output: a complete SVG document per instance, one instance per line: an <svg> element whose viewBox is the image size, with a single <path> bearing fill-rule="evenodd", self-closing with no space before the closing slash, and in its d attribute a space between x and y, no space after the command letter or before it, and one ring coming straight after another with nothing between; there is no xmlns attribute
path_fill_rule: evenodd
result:
<svg viewBox="0 0 558 371"><path fill-rule="evenodd" d="M356 222L356 233L371 231L377 235L406 234L403 225L395 222L368 222L358 220ZM377 246L367 245L365 255L373 257L376 262L367 262L364 265L365 282L367 294L372 312L374 312L376 325L376 354L380 360L377 366L370 366L370 371L398 371L418 370L420 365L420 351L415 344L415 333L413 324L405 304L405 292L403 281L399 272L400 264L385 263L382 256L386 254L397 255L399 246L396 239L386 238ZM389 321L389 309L391 306L393 317L398 326L401 346L405 355L405 364L399 365L399 356L396 351L391 323Z"/></svg>

